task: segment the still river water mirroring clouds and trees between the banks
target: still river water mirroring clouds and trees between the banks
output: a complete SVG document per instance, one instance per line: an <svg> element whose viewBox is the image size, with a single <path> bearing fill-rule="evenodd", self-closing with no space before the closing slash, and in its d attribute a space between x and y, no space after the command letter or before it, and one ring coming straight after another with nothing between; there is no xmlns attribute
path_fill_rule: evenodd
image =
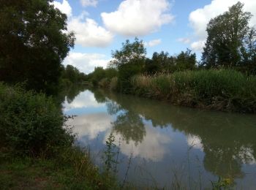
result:
<svg viewBox="0 0 256 190"><path fill-rule="evenodd" d="M256 115L176 107L99 89L67 96L63 105L66 115L76 115L67 124L79 145L90 148L99 166L105 141L114 135L121 182L204 189L222 176L234 189L256 189Z"/></svg>

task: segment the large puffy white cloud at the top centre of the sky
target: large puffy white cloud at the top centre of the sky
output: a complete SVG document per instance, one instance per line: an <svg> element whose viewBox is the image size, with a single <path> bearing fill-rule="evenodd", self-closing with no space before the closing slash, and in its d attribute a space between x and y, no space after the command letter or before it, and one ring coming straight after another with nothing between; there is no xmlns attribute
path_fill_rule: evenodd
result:
<svg viewBox="0 0 256 190"><path fill-rule="evenodd" d="M141 36L157 31L174 17L167 0L125 0L115 12L102 12L106 28L126 36Z"/></svg>

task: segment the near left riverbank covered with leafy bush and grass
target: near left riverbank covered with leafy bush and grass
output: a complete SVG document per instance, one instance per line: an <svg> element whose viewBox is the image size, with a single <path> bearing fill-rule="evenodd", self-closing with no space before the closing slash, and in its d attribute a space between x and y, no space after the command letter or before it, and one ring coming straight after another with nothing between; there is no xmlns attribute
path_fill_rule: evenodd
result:
<svg viewBox="0 0 256 190"><path fill-rule="evenodd" d="M1 189L110 189L89 151L75 146L59 105L44 94L0 83Z"/></svg>

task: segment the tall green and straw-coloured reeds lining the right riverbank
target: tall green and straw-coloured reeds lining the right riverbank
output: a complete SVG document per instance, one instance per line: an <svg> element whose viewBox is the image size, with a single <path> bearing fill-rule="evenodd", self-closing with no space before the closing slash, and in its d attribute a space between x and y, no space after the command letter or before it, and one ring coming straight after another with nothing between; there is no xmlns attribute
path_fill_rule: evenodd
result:
<svg viewBox="0 0 256 190"><path fill-rule="evenodd" d="M199 70L132 77L132 92L173 104L256 113L256 77L234 70Z"/></svg>

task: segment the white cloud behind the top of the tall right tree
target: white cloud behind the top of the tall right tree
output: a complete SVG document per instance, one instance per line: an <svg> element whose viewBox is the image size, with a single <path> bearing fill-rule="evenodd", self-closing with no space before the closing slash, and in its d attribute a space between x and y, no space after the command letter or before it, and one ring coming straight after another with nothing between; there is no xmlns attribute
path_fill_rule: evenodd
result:
<svg viewBox="0 0 256 190"><path fill-rule="evenodd" d="M256 26L256 1L255 0L240 0L244 3L244 10L252 12L253 18L250 21L250 26ZM206 5L203 8L196 9L189 15L190 26L194 29L195 37L197 41L192 42L192 50L202 50L202 43L207 38L206 26L211 18L215 18L228 10L233 4L236 4L238 0L212 0L211 4ZM203 45L204 46L204 45Z"/></svg>

